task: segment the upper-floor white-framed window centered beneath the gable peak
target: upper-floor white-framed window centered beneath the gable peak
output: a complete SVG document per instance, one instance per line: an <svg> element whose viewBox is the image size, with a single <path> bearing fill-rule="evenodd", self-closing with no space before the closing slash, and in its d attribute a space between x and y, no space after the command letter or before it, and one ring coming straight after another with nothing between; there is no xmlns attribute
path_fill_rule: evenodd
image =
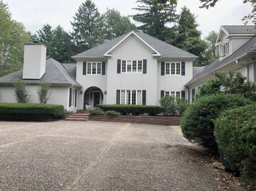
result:
<svg viewBox="0 0 256 191"><path fill-rule="evenodd" d="M121 73L142 73L142 60L122 60Z"/></svg>

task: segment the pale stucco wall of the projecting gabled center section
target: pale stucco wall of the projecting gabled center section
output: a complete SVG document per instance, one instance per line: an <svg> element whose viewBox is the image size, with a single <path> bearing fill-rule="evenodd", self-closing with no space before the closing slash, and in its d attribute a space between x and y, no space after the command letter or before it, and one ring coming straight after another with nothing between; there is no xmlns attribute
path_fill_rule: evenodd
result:
<svg viewBox="0 0 256 191"><path fill-rule="evenodd" d="M117 74L117 60L147 59L147 74L121 73ZM157 60L152 52L134 37L129 38L108 59L107 104L116 103L117 89L146 90L146 104L155 105L156 100L156 70Z"/></svg>

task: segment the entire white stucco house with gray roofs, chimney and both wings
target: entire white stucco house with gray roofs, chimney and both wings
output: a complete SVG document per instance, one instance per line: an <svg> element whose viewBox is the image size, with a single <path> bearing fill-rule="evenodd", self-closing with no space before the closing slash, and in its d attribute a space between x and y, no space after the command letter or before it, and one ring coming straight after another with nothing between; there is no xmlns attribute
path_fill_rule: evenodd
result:
<svg viewBox="0 0 256 191"><path fill-rule="evenodd" d="M48 103L74 112L87 104L159 105L167 94L192 102L195 91L217 70L239 70L256 81L255 34L254 26L222 26L218 58L208 67L193 67L195 55L142 32L75 55L76 64L46 60L45 45L26 44L23 70L0 78L0 102L16 102L13 82L18 78L29 84L30 102L38 102L37 83L44 81L53 91Z"/></svg>

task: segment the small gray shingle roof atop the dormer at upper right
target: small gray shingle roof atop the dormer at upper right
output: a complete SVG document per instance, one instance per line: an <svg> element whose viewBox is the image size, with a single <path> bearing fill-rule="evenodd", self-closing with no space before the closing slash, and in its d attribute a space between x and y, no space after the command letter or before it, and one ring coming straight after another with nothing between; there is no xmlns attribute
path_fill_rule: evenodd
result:
<svg viewBox="0 0 256 191"><path fill-rule="evenodd" d="M222 25L229 33L256 33L254 25Z"/></svg>

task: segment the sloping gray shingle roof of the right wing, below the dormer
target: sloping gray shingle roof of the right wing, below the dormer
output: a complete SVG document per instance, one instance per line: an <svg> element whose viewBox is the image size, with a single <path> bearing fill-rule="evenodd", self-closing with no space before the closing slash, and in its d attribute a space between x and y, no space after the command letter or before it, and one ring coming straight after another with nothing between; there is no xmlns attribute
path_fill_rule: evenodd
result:
<svg viewBox="0 0 256 191"><path fill-rule="evenodd" d="M256 46L256 37L250 39L247 43L245 43L242 47L240 47L238 50L236 50L233 54L231 54L228 57L225 57L221 61L219 59L216 59L213 63L211 63L210 65L205 67L201 72L199 72L197 75L195 75L195 77L193 76L193 79L190 80L186 85L188 85L189 83L195 82L200 77L211 73L212 71L229 63L230 61L236 59L237 57L243 55L246 52L256 52L256 49L254 48L255 46Z"/></svg>

